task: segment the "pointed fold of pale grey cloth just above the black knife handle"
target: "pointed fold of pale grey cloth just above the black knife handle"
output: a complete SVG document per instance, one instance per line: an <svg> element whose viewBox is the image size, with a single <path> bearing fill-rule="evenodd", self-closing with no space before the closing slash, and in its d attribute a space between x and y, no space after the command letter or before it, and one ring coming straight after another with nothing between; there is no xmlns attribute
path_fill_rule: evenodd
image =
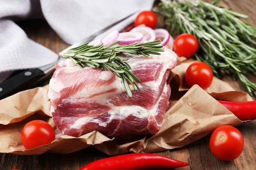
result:
<svg viewBox="0 0 256 170"><path fill-rule="evenodd" d="M50 64L58 55L33 42L13 21L0 19L0 80L13 71Z"/></svg>

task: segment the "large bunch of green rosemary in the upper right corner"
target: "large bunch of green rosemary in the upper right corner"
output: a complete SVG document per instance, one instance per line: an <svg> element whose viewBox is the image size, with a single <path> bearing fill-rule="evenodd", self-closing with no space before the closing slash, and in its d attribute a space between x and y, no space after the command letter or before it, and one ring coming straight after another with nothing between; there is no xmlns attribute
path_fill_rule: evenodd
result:
<svg viewBox="0 0 256 170"><path fill-rule="evenodd" d="M197 60L211 66L214 75L231 75L253 95L256 84L246 73L256 75L256 29L240 18L247 15L202 0L161 0L157 9L165 17L171 35L191 33L198 38Z"/></svg>

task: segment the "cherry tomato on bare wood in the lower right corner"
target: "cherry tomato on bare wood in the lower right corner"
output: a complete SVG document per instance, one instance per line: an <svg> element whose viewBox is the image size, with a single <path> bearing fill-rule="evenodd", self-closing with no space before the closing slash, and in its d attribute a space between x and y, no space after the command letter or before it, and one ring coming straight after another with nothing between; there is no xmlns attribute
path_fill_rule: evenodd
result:
<svg viewBox="0 0 256 170"><path fill-rule="evenodd" d="M216 128L211 134L210 150L222 161L232 161L243 152L244 138L241 132L229 125Z"/></svg>

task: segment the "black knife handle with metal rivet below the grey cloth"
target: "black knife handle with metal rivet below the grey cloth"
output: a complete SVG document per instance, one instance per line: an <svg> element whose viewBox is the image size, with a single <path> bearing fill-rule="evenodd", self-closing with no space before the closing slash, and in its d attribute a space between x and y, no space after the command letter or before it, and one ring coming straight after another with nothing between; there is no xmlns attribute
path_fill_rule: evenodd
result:
<svg viewBox="0 0 256 170"><path fill-rule="evenodd" d="M31 68L4 80L0 83L0 100L26 89L29 84L33 84L39 77L43 76L45 73L42 70Z"/></svg>

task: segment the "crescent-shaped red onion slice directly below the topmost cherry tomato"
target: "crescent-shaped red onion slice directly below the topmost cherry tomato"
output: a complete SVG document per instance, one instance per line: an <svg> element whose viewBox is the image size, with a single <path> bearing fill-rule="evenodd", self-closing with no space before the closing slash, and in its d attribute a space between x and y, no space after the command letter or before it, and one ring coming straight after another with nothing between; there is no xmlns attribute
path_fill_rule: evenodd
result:
<svg viewBox="0 0 256 170"><path fill-rule="evenodd" d="M144 35L143 41L155 41L155 31L148 26L136 26L130 32L139 32Z"/></svg>

